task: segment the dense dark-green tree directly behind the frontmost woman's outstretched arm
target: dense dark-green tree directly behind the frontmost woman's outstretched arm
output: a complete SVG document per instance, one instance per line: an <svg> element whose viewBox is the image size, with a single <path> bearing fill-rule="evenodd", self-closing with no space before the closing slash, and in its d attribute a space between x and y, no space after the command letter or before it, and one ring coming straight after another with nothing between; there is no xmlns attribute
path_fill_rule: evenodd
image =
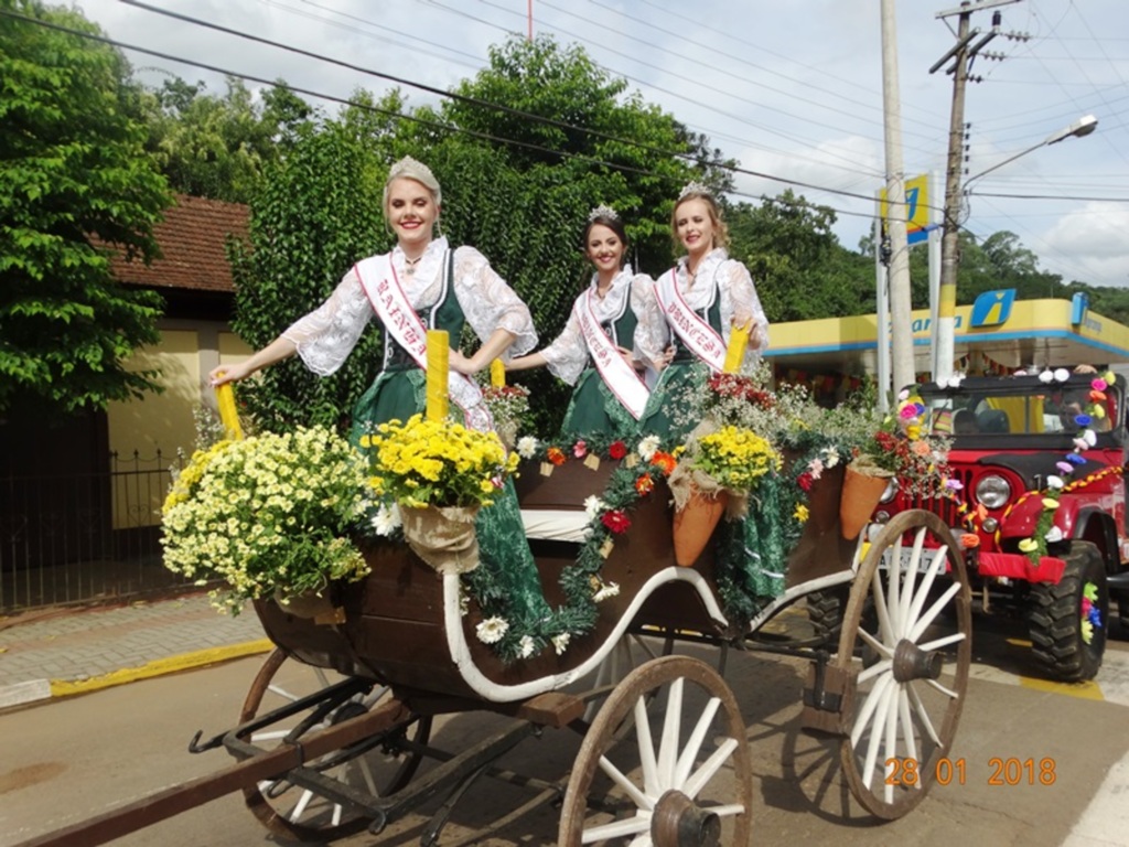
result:
<svg viewBox="0 0 1129 847"><path fill-rule="evenodd" d="M236 299L233 329L252 347L272 341L313 311L359 259L387 248L380 190L385 157L356 125L330 122L300 131L266 173L251 204L251 248L229 247ZM259 426L348 425L352 403L379 368L376 331L344 366L321 378L295 359L240 383L240 401Z"/></svg>

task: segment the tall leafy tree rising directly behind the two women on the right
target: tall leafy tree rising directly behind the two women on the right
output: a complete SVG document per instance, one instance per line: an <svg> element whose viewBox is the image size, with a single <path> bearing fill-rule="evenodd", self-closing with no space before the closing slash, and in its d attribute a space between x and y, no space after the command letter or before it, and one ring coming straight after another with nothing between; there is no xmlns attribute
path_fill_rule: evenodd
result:
<svg viewBox="0 0 1129 847"><path fill-rule="evenodd" d="M588 208L613 206L647 270L671 264L669 216L680 189L691 178L718 189L730 185L720 167L726 163L703 136L638 91L628 93L625 80L609 76L580 46L562 47L548 36L510 38L491 47L490 66L455 91L473 102L444 103L441 120L495 139L490 146L513 171L526 175L551 168L561 183L578 184ZM531 191L543 184L533 180ZM489 195L481 201L489 203ZM570 245L583 222L581 217L560 230Z"/></svg>

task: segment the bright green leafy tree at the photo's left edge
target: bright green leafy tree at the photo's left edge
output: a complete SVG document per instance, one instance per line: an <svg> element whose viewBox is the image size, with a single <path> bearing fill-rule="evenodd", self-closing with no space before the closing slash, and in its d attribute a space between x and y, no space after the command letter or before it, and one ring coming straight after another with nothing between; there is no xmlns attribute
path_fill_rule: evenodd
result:
<svg viewBox="0 0 1129 847"><path fill-rule="evenodd" d="M0 10L80 32L37 0ZM168 204L129 116L130 68L112 47L0 16L0 413L76 412L154 390L122 363L158 340L160 298L115 282L111 246L148 261Z"/></svg>

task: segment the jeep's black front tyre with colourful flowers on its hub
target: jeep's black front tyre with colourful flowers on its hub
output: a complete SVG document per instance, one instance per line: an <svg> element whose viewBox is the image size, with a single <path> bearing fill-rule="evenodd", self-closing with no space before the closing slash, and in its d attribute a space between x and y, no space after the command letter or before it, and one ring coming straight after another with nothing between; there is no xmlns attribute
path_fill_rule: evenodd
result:
<svg viewBox="0 0 1129 847"><path fill-rule="evenodd" d="M1058 585L1031 586L1027 623L1043 671L1060 682L1077 682L1093 679L1102 666L1110 592L1095 544L1074 541L1062 558L1066 568Z"/></svg>

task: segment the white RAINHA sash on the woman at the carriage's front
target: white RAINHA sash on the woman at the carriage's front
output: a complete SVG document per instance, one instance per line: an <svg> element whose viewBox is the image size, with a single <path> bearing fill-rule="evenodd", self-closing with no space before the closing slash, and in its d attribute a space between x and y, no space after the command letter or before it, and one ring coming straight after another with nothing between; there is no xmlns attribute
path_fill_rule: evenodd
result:
<svg viewBox="0 0 1129 847"><path fill-rule="evenodd" d="M446 268L446 262L444 262ZM357 263L355 270L361 288L368 296L376 316L384 324L384 331L400 344L417 365L427 370L427 328L420 321L408 295L400 286L396 270L392 267L391 254L369 256ZM441 271L446 272L446 271ZM454 339L458 343L458 339ZM466 418L466 426L489 433L493 429L490 410L482 402L478 384L457 370L447 373L447 390L450 400Z"/></svg>

